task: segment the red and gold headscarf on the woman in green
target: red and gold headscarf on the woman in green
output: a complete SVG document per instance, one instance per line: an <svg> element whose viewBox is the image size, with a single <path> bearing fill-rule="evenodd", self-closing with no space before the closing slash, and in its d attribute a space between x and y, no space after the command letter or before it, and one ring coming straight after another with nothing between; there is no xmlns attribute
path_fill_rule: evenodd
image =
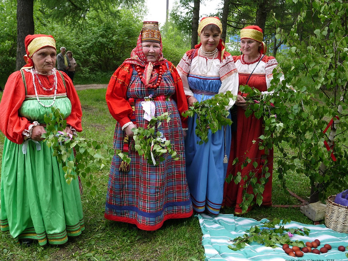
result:
<svg viewBox="0 0 348 261"><path fill-rule="evenodd" d="M52 35L46 34L28 34L24 39L25 52L24 61L26 65L23 68L31 68L34 66L31 57L35 52L40 50L42 47L50 46L56 49L56 40Z"/></svg>

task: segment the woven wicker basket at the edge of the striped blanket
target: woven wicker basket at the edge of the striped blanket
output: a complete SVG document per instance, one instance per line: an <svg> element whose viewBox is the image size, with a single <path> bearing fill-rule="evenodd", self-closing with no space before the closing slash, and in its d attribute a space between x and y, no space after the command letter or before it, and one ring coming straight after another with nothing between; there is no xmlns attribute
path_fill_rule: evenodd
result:
<svg viewBox="0 0 348 261"><path fill-rule="evenodd" d="M348 207L334 202L336 195L326 200L325 226L337 232L348 233Z"/></svg>

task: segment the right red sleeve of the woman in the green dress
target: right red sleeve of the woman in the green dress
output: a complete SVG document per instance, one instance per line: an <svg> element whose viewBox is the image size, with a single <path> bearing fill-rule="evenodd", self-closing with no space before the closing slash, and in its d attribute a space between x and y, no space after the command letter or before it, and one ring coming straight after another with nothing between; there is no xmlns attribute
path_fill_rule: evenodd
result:
<svg viewBox="0 0 348 261"><path fill-rule="evenodd" d="M64 72L62 72L62 74L63 74L64 80L65 80L66 96L68 96L68 98L71 102L71 113L66 118L66 124L69 124L70 126L72 126L74 129L76 129L76 131L81 132L82 131L81 102L80 102L79 96L77 95L76 89L75 89L71 79Z"/></svg>

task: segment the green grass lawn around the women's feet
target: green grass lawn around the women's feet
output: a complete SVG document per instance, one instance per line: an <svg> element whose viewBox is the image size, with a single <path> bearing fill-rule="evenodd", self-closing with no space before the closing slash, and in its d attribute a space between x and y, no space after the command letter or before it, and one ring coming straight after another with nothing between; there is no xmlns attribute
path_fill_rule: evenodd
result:
<svg viewBox="0 0 348 261"><path fill-rule="evenodd" d="M80 134L108 144L113 143L115 120L105 102L106 89L79 90L82 104L84 131ZM1 98L0 93L0 98ZM4 135L0 133L0 157ZM275 152L275 156L277 152ZM272 200L275 205L299 205L295 197L284 194L277 179L276 166L273 175ZM157 231L142 231L126 223L104 219L105 196L109 169L93 170L93 184L97 186L95 196L84 186L82 205L86 230L77 238L69 238L63 246L48 245L30 247L16 245L8 232L0 232L0 260L204 260L201 245L202 233L196 216L187 219L168 220ZM288 188L303 199L308 199L309 180L305 175L294 173L286 177ZM84 180L82 179L82 183ZM233 209L223 209L233 213ZM275 217L313 224L299 208L255 207L244 215L256 220ZM232 250L231 250L232 251Z"/></svg>

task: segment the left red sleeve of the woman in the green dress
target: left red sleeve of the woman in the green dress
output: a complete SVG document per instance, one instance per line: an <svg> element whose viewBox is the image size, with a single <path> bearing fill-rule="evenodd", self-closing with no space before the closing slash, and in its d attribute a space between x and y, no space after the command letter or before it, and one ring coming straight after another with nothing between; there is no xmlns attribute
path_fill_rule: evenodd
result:
<svg viewBox="0 0 348 261"><path fill-rule="evenodd" d="M24 129L28 129L31 122L25 117L18 115L25 99L25 88L20 71L12 73L6 82L3 91L0 108L0 129L2 133L12 142L22 144Z"/></svg>

